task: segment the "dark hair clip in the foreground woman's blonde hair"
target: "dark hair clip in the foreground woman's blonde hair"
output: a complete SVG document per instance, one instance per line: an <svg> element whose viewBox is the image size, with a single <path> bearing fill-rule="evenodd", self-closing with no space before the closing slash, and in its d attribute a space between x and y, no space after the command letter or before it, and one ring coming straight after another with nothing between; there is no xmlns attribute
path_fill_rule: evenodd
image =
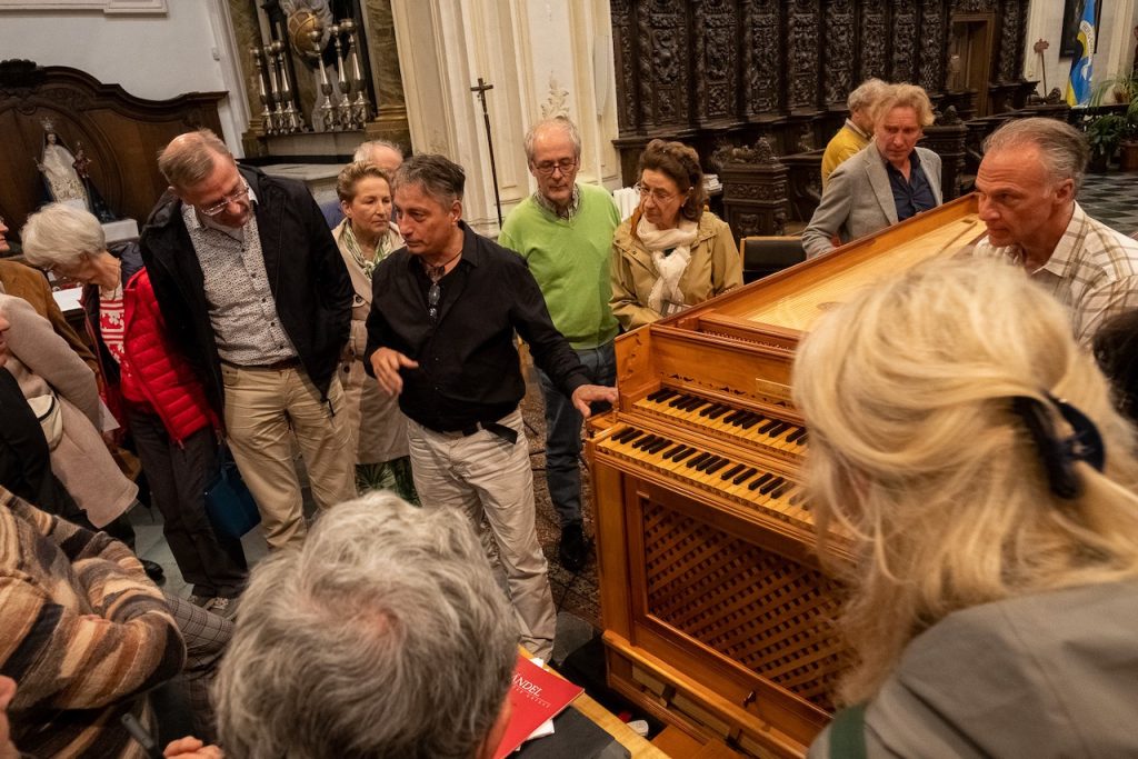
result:
<svg viewBox="0 0 1138 759"><path fill-rule="evenodd" d="M1103 471L1106 463L1103 436L1087 414L1049 393L1045 395L1074 430L1070 437L1063 439L1056 437L1052 416L1038 398L1025 395L1013 396L1012 411L1023 420L1031 436L1052 493L1061 498L1077 498L1082 493L1082 485L1075 475L1074 462L1085 461L1096 470Z"/></svg>

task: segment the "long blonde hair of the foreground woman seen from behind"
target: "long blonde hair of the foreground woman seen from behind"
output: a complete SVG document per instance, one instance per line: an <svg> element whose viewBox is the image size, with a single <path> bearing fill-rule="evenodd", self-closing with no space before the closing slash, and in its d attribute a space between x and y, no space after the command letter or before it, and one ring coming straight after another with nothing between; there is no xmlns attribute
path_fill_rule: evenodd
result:
<svg viewBox="0 0 1138 759"><path fill-rule="evenodd" d="M857 661L841 701L876 694L954 611L1138 575L1133 430L1062 306L1019 267L939 262L856 295L802 341L793 385L818 534L853 535L841 627ZM1071 427L1054 398L1097 426L1106 464L1073 464L1081 494L1050 489L1016 396L1058 438Z"/></svg>

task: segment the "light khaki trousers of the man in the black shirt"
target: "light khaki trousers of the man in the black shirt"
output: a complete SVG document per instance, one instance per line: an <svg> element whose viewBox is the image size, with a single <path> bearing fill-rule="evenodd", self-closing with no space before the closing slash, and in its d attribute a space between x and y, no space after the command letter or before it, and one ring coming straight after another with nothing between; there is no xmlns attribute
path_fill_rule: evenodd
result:
<svg viewBox="0 0 1138 759"><path fill-rule="evenodd" d="M498 421L518 432L510 445L493 432L435 432L409 421L411 468L424 508L453 506L479 529L483 515L497 543L510 601L518 616L521 644L549 661L553 654L556 612L549 568L534 527L534 473L529 443L514 411Z"/></svg>

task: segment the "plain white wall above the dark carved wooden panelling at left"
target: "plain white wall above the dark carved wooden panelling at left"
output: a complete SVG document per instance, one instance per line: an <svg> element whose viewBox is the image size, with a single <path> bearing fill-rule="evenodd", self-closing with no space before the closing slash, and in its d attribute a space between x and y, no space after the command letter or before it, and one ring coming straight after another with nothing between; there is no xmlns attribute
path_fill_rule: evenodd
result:
<svg viewBox="0 0 1138 759"><path fill-rule="evenodd" d="M228 55L228 22L217 13L218 6L224 0L170 0L166 13L147 15L3 10L0 58L71 66L147 99L234 91L240 88ZM226 98L218 109L223 138L239 156L240 135L248 123L241 97Z"/></svg>

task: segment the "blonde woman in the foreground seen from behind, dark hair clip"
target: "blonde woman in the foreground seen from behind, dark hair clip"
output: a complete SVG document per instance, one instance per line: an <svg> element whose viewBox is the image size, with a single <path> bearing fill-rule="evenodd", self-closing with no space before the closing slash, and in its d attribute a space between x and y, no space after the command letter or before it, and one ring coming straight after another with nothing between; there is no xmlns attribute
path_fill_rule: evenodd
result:
<svg viewBox="0 0 1138 759"><path fill-rule="evenodd" d="M920 266L824 315L793 385L818 533L853 553L857 706L810 757L1138 754L1135 432L1062 306Z"/></svg>

